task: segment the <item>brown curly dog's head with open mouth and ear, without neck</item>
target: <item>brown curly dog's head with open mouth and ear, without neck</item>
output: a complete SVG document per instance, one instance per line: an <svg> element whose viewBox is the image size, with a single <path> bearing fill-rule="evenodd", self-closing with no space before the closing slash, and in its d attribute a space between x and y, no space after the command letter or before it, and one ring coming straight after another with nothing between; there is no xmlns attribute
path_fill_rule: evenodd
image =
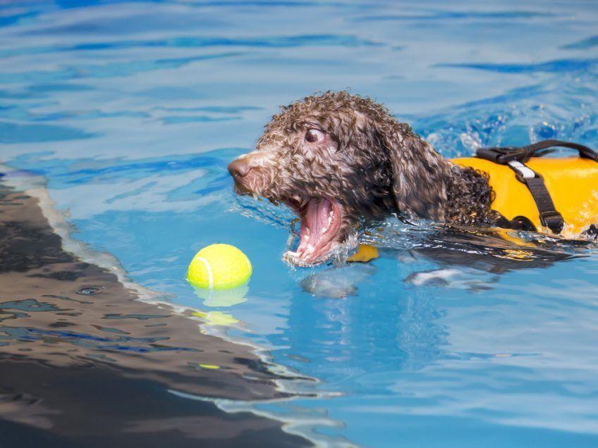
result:
<svg viewBox="0 0 598 448"><path fill-rule="evenodd" d="M329 259L360 219L394 211L442 218L441 157L374 101L326 92L281 108L257 149L228 170L239 194L283 203L301 221L300 243L286 258Z"/></svg>

